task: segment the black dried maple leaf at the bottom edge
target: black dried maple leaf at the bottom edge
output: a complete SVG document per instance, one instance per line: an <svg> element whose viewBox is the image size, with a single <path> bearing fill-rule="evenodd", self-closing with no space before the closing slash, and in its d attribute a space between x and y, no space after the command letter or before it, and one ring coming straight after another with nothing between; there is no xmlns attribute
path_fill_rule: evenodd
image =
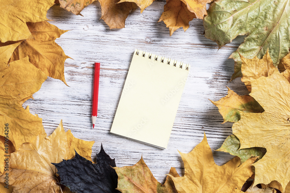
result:
<svg viewBox="0 0 290 193"><path fill-rule="evenodd" d="M115 159L111 159L103 149L97 154L97 163L92 163L75 152L75 157L52 163L57 168L61 184L78 193L117 193L118 175L112 167L116 167ZM111 167L112 166L112 167Z"/></svg>

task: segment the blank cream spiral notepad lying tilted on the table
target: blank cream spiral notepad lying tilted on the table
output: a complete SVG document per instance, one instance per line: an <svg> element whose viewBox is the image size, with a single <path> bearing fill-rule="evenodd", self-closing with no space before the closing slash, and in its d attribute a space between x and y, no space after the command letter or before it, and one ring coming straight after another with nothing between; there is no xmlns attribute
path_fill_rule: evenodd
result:
<svg viewBox="0 0 290 193"><path fill-rule="evenodd" d="M111 133L166 148L189 68L135 49Z"/></svg>

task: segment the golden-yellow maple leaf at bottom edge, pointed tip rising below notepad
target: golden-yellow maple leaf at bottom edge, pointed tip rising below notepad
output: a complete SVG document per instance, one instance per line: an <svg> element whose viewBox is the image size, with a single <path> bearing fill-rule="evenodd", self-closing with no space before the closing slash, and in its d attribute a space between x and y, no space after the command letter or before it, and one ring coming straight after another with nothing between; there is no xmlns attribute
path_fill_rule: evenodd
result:
<svg viewBox="0 0 290 193"><path fill-rule="evenodd" d="M224 193L242 192L242 186L253 174L251 164L257 157L252 157L240 165L240 158L235 157L223 166L213 160L206 135L188 154L181 153L184 162L184 176L173 177L168 174L178 193ZM240 166L239 166L240 165Z"/></svg>

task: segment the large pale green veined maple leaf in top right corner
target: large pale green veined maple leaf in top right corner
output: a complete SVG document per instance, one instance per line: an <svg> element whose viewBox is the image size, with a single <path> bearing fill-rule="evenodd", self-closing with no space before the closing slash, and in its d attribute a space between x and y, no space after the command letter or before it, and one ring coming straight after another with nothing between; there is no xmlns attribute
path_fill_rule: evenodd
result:
<svg viewBox="0 0 290 193"><path fill-rule="evenodd" d="M282 0L215 1L204 17L205 37L221 48L239 35L246 35L237 51L230 58L235 60L232 79L242 73L238 54L251 59L262 58L269 48L273 64L289 53L290 3Z"/></svg>

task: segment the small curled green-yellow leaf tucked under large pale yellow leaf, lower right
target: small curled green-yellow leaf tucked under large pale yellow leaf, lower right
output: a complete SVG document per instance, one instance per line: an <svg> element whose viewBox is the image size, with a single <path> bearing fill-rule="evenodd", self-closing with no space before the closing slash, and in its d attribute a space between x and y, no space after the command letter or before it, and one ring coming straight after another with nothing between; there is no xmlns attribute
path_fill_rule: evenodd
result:
<svg viewBox="0 0 290 193"><path fill-rule="evenodd" d="M235 135L229 135L222 146L216 151L227 152L231 155L238 156L241 159L241 163L244 163L252 156L257 156L261 159L266 153L265 148L259 147L240 149L240 140Z"/></svg>

